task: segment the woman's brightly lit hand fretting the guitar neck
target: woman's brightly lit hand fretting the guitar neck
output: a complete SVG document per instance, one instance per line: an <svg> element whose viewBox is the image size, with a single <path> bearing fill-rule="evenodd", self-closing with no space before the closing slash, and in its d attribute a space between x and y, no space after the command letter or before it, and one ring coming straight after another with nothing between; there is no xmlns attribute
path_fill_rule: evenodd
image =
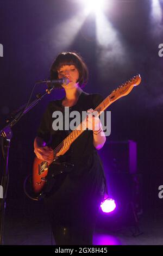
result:
<svg viewBox="0 0 163 256"><path fill-rule="evenodd" d="M96 132L102 128L102 123L99 117L95 117L94 115L92 115L93 112L94 111L92 108L87 110L87 113L89 113L89 115L86 116L86 127L89 130Z"/></svg>

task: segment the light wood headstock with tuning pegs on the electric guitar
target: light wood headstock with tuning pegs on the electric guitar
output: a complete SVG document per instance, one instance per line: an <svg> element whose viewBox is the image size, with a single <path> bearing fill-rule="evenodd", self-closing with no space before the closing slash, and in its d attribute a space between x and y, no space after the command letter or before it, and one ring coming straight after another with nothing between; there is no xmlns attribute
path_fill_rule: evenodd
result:
<svg viewBox="0 0 163 256"><path fill-rule="evenodd" d="M109 98L111 101L115 101L122 96L128 95L134 86L138 86L141 82L140 75L136 75L130 78L126 83L121 84L117 89L115 89L110 95Z"/></svg>

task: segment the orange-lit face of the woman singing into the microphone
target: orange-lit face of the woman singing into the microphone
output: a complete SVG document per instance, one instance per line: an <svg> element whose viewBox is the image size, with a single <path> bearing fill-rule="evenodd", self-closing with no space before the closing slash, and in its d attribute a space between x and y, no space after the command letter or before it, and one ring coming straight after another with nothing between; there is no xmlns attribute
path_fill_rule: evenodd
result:
<svg viewBox="0 0 163 256"><path fill-rule="evenodd" d="M69 84L76 84L79 79L79 71L74 65L64 65L58 70L58 78L66 77L70 81Z"/></svg>

